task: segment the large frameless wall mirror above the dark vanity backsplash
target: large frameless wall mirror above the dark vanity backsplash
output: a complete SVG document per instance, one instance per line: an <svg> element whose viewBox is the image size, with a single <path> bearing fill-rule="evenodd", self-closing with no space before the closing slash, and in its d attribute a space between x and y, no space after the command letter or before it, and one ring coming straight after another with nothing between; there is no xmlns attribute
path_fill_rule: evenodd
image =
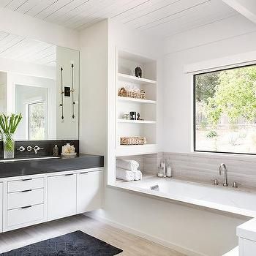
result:
<svg viewBox="0 0 256 256"><path fill-rule="evenodd" d="M0 31L0 112L15 140L77 140L79 51Z"/></svg>

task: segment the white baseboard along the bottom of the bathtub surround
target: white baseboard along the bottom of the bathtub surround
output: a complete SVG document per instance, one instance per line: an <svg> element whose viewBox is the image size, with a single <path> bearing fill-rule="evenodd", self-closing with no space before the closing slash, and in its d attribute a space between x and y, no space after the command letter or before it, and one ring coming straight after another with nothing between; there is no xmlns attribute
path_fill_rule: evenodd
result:
<svg viewBox="0 0 256 256"><path fill-rule="evenodd" d="M195 252L195 251L192 251L191 249L187 249L186 247L179 246L177 244L172 244L169 241L166 241L162 238L157 238L156 236L151 236L151 235L148 235L146 233L140 232L139 230L135 230L134 228L127 227L126 225L122 225L121 223L113 222L112 220L106 219L105 217L101 217L98 214L95 214L94 212L87 212L84 215L87 216L87 217L90 217L91 219L96 219L99 222L103 222L105 224L108 224L112 227L116 227L120 230L124 230L127 233L131 233L135 236L145 238L148 241L152 241L156 244L161 244L162 246L165 246L169 249L173 249L177 252L181 252L184 255L187 255L187 256L207 256L207 255L203 255L200 252Z"/></svg>

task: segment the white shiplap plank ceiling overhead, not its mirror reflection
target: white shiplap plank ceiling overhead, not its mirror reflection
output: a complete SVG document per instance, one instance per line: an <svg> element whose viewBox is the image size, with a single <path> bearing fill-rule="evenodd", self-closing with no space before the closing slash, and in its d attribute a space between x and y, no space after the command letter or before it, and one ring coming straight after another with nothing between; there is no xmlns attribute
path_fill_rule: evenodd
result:
<svg viewBox="0 0 256 256"><path fill-rule="evenodd" d="M158 37L238 15L222 0L0 0L0 7L77 30L110 18Z"/></svg>

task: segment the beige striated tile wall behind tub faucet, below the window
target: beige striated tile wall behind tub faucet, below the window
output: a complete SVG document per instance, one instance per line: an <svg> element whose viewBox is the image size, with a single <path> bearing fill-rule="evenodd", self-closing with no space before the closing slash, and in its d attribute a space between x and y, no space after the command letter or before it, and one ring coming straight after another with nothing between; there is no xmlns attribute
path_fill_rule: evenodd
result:
<svg viewBox="0 0 256 256"><path fill-rule="evenodd" d="M175 178L211 183L218 178L219 184L223 176L218 176L219 165L227 165L228 183L232 186L237 181L242 187L256 188L256 156L206 154L206 153L163 153L169 159Z"/></svg>

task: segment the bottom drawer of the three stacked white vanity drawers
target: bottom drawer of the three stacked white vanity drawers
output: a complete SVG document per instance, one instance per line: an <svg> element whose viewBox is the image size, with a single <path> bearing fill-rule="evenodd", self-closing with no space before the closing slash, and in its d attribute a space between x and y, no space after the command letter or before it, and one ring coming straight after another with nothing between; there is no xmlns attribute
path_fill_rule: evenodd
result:
<svg viewBox="0 0 256 256"><path fill-rule="evenodd" d="M29 206L7 211L7 227L23 225L44 218L44 205Z"/></svg>

